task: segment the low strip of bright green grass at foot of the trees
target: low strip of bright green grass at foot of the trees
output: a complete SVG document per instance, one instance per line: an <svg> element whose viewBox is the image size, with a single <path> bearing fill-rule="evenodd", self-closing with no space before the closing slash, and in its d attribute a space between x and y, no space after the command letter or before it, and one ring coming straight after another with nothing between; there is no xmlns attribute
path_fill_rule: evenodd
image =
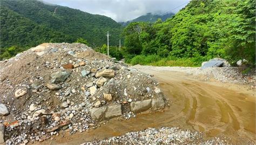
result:
<svg viewBox="0 0 256 145"><path fill-rule="evenodd" d="M177 58L173 56L160 57L159 55L137 55L130 60L130 64L171 67L200 67L206 61L203 56L192 58Z"/></svg>

